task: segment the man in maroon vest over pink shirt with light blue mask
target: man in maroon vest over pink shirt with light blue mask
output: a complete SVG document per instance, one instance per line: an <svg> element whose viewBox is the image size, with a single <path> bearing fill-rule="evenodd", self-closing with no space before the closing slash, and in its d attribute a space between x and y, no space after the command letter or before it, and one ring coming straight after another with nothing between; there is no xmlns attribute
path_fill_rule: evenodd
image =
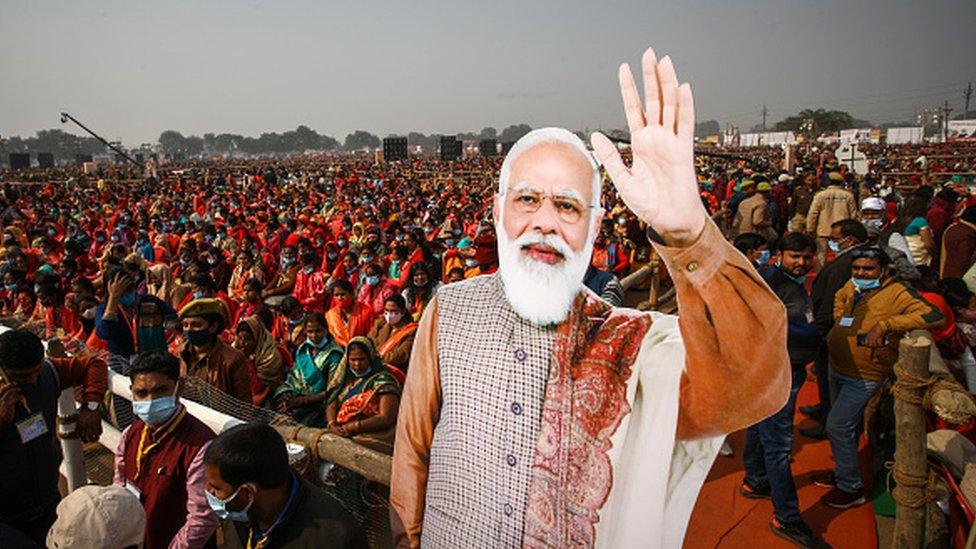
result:
<svg viewBox="0 0 976 549"><path fill-rule="evenodd" d="M203 456L214 432L180 403L180 362L173 355L139 355L129 379L139 419L122 432L114 482L146 510L145 547L210 546L218 519L207 504Z"/></svg>

